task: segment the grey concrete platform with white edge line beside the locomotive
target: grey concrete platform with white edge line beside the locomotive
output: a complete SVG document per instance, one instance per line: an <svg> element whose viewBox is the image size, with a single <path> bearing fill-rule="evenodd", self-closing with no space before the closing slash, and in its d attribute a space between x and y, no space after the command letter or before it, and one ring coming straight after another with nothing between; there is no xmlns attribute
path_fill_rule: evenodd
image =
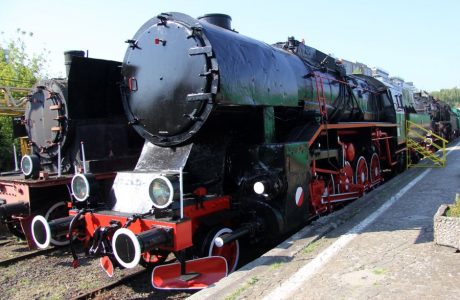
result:
<svg viewBox="0 0 460 300"><path fill-rule="evenodd" d="M459 299L460 253L433 216L460 193L460 143L445 168L413 168L190 299Z"/></svg>

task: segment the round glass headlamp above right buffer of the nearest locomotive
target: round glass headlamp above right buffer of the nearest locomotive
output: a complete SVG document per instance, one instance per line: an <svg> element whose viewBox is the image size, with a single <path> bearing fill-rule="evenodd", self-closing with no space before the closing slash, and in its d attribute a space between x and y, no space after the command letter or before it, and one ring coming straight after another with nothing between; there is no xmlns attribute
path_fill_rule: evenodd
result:
<svg viewBox="0 0 460 300"><path fill-rule="evenodd" d="M150 199L156 208L168 207L177 198L177 180L166 176L153 178L149 186Z"/></svg>

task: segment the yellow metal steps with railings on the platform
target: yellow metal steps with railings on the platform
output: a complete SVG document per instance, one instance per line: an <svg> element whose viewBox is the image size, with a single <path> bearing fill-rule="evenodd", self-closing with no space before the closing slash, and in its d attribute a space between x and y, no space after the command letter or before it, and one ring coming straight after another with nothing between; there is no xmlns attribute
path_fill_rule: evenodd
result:
<svg viewBox="0 0 460 300"><path fill-rule="evenodd" d="M443 168L446 166L448 141L414 122L406 120L407 168ZM413 163L412 153L418 153L426 163ZM431 162L431 163L430 163Z"/></svg>

